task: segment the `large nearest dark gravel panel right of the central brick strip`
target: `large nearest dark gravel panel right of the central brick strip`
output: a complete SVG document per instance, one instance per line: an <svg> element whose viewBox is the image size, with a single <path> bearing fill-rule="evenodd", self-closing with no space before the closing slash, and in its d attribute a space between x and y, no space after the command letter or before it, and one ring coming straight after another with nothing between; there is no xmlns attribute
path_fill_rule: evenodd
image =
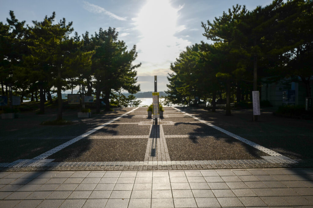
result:
<svg viewBox="0 0 313 208"><path fill-rule="evenodd" d="M167 138L171 160L262 159L267 154L231 137Z"/></svg>

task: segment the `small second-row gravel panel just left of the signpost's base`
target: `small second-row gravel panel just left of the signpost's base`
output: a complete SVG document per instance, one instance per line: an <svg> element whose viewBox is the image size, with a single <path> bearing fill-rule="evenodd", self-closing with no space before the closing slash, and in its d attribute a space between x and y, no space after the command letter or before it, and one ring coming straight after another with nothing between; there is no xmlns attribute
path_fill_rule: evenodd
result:
<svg viewBox="0 0 313 208"><path fill-rule="evenodd" d="M121 136L121 135L148 135L150 132L150 125L138 125L138 124L118 124L111 123L90 136Z"/></svg>

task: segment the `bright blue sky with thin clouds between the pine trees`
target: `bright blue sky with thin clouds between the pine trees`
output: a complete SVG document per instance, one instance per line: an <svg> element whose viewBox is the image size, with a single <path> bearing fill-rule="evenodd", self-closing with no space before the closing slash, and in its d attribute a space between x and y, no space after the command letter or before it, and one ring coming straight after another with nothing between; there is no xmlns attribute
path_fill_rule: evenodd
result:
<svg viewBox="0 0 313 208"><path fill-rule="evenodd" d="M32 25L32 20L42 21L56 12L56 20L65 18L73 22L74 31L94 34L99 28L114 27L119 40L130 50L136 45L138 57L137 83L141 91L167 90L170 64L187 46L200 41L208 42L202 35L201 22L213 21L233 5L246 5L248 10L269 5L272 0L0 0L0 21L5 23L9 11L16 18ZM74 36L74 32L72 33Z"/></svg>

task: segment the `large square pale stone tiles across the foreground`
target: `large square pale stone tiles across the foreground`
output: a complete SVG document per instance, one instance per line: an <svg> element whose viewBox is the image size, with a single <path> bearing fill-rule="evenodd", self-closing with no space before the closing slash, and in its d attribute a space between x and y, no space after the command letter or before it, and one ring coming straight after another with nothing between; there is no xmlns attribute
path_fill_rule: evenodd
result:
<svg viewBox="0 0 313 208"><path fill-rule="evenodd" d="M0 207L313 207L312 168L0 172Z"/></svg>

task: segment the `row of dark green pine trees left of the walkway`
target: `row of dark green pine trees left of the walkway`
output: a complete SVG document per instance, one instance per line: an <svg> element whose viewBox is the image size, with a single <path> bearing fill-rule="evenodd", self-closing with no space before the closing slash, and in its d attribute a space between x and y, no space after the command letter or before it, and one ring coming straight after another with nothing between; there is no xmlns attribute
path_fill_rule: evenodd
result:
<svg viewBox="0 0 313 208"><path fill-rule="evenodd" d="M122 90L136 93L137 72L141 64L133 65L137 57L136 46L127 50L118 40L115 28L99 29L94 35L86 31L80 37L72 22L65 18L55 22L55 12L43 21L25 25L10 11L7 23L0 22L0 82L1 94L30 97L40 100L40 113L44 102L57 93L57 120L62 119L62 94L66 89L79 86L79 93L96 95L96 111L100 112L100 96L110 108L110 97Z"/></svg>

